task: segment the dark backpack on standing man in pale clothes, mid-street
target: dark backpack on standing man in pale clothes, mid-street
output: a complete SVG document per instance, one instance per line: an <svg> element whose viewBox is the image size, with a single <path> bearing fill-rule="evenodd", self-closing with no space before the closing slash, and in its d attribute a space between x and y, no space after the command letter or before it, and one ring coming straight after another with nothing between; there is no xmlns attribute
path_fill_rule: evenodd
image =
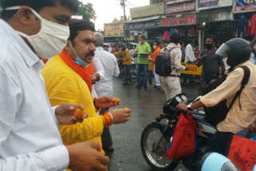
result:
<svg viewBox="0 0 256 171"><path fill-rule="evenodd" d="M170 66L170 52L178 47L172 47L170 50L161 51L160 54L158 54L156 60L155 60L155 73L159 76L166 77L170 76L171 73L171 66Z"/></svg>

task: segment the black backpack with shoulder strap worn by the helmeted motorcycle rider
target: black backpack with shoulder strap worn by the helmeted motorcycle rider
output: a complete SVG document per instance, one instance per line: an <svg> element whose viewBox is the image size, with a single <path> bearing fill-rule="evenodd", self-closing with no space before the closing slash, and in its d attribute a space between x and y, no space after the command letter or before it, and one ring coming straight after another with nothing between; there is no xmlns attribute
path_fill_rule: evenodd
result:
<svg viewBox="0 0 256 171"><path fill-rule="evenodd" d="M221 101L218 103L218 105L214 105L212 107L204 106L204 110L206 112L206 121L211 125L217 125L220 121L223 121L226 118L226 114L229 113L230 109L234 105L234 101L236 101L237 98L239 98L240 101L242 89L245 88L250 78L250 69L247 66L240 67L244 70L244 78L242 79L241 88L238 90L238 93L236 93L236 95L234 96L234 99L231 102L229 108L227 108L226 106L226 100ZM222 82L224 82L225 80L226 78L218 78L216 81L212 82L209 86L207 86L206 89L203 89L202 94L205 95L206 93L209 93L210 91L216 89L218 85L221 85Z"/></svg>

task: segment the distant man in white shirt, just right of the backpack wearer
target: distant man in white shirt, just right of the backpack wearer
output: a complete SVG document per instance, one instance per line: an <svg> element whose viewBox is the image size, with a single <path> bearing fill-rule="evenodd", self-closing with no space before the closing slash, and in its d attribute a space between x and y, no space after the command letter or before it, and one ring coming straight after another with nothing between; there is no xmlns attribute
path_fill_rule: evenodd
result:
<svg viewBox="0 0 256 171"><path fill-rule="evenodd" d="M194 40L191 39L189 40L189 44L186 46L186 57L185 57L185 63L194 63L196 61L196 58L194 57ZM192 75L186 74L184 78L185 83L190 83L191 82Z"/></svg>

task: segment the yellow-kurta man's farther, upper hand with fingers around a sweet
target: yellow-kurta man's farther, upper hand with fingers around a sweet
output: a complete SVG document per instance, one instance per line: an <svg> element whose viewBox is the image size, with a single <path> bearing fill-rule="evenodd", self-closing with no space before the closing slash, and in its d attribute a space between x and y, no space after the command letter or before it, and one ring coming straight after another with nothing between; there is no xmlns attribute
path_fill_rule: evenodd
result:
<svg viewBox="0 0 256 171"><path fill-rule="evenodd" d="M103 96L103 97L98 97L95 99L95 107L96 108L110 108L110 107L113 107L116 105L120 105L120 102L118 102L118 104L115 104L114 97Z"/></svg>

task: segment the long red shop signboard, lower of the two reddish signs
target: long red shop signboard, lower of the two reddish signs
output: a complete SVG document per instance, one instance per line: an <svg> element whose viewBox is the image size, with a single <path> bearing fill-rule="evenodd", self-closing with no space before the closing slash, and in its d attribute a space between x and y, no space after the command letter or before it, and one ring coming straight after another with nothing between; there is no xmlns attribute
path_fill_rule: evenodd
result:
<svg viewBox="0 0 256 171"><path fill-rule="evenodd" d="M165 18L162 19L162 26L186 26L195 25L197 22L196 15L190 15L183 18Z"/></svg>

